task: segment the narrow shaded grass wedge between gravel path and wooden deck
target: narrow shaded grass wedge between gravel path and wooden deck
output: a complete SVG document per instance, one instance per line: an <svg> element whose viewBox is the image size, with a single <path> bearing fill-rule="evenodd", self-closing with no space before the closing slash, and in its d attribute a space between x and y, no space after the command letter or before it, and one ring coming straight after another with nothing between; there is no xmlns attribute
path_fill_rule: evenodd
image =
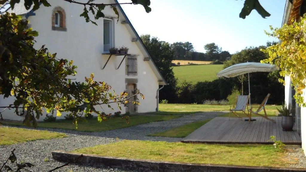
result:
<svg viewBox="0 0 306 172"><path fill-rule="evenodd" d="M200 128L202 125L209 122L210 120L212 119L207 119L205 121L200 121L200 122L192 122L190 124L181 125L164 132L150 134L149 136L179 137L179 138L186 137L190 133L194 132L196 129Z"/></svg>

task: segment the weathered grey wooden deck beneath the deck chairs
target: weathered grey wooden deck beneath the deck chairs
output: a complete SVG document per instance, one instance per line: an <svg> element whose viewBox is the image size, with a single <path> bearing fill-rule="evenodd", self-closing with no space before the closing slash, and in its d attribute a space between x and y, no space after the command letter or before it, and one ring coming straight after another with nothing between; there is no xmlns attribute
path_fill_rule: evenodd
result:
<svg viewBox="0 0 306 172"><path fill-rule="evenodd" d="M301 145L302 141L295 128L283 131L282 117L271 117L276 123L262 117L252 117L248 122L241 118L216 117L181 140L184 143L223 143L223 144L271 144L270 136L276 136L284 144Z"/></svg>

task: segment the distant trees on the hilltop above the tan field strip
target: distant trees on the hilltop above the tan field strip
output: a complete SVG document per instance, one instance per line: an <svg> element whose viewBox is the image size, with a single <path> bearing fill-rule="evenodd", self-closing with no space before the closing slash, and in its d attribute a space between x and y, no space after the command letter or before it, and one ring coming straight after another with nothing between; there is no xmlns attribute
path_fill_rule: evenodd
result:
<svg viewBox="0 0 306 172"><path fill-rule="evenodd" d="M215 43L209 43L204 46L206 53L196 52L192 43L176 42L171 44L174 51L175 60L196 60L196 61L221 61L230 59L231 54L228 51L222 51Z"/></svg>

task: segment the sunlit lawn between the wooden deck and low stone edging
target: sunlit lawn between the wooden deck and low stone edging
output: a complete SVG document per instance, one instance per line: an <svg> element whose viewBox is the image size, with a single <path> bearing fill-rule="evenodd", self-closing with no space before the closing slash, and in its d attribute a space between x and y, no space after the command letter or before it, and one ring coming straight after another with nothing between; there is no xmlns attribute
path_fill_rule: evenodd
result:
<svg viewBox="0 0 306 172"><path fill-rule="evenodd" d="M82 148L76 153L167 162L289 167L296 160L272 145L185 144L123 140Z"/></svg>

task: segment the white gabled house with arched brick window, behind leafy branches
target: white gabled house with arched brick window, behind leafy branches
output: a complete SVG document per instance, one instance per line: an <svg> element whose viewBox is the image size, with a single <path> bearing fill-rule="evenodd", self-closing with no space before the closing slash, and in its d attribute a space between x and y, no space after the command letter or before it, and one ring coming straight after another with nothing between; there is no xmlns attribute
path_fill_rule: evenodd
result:
<svg viewBox="0 0 306 172"><path fill-rule="evenodd" d="M32 8L26 10L24 0L16 4L13 10L9 8L9 4L2 10L29 20L30 27L39 32L39 36L35 38L35 48L45 44L49 52L57 53L58 58L73 60L73 64L78 66L77 81L84 81L84 77L94 73L95 80L105 81L117 94L123 91L132 94L136 88L144 94L145 99L139 100L139 106L130 104L128 107L122 107L121 113L158 110L159 88L160 85L166 85L166 81L120 5L117 5L118 22L113 9L107 6L103 10L105 17L95 21L98 24L96 26L90 22L86 23L84 17L80 17L84 6L63 0L48 2L51 7L41 5L36 11ZM103 3L118 1L103 0ZM129 55L109 54L110 47L122 46L129 48ZM12 101L13 97L2 98L0 106L8 106ZM105 113L118 111L116 104L112 107L114 110L107 107L103 107L103 110ZM5 110L2 114L4 119L23 120L23 117L14 114L13 110ZM43 118L44 116L39 121Z"/></svg>

